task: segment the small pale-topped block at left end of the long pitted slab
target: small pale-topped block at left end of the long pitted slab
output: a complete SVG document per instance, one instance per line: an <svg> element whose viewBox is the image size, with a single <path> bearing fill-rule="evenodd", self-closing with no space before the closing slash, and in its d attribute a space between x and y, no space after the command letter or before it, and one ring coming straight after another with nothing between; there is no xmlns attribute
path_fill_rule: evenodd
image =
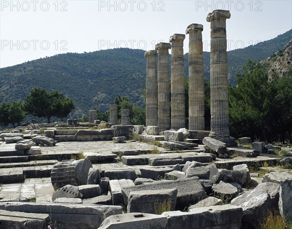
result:
<svg viewBox="0 0 292 229"><path fill-rule="evenodd" d="M132 180L110 180L110 193L113 205L124 204L122 189L128 186L135 186Z"/></svg>

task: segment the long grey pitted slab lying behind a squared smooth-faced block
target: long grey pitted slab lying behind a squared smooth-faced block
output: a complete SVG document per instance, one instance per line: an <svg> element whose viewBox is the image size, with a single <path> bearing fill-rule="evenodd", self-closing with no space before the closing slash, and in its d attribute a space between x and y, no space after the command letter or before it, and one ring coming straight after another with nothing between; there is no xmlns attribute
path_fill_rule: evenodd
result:
<svg viewBox="0 0 292 229"><path fill-rule="evenodd" d="M123 196L125 204L128 204L128 196L131 191L143 191L143 190L162 190L162 189L177 189L177 207L185 207L188 204L194 204L199 199L205 197L205 191L203 190L198 177L191 178L179 178L176 181L150 183L146 185L138 185L134 187L123 188ZM183 208L184 208L183 207Z"/></svg>

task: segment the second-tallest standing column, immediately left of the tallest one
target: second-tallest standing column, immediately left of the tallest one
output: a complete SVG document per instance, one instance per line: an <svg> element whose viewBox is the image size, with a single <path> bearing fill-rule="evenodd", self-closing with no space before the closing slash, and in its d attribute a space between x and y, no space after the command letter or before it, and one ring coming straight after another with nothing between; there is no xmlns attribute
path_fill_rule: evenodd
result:
<svg viewBox="0 0 292 229"><path fill-rule="evenodd" d="M190 24L189 34L189 130L205 130L204 69L203 69L203 25Z"/></svg>

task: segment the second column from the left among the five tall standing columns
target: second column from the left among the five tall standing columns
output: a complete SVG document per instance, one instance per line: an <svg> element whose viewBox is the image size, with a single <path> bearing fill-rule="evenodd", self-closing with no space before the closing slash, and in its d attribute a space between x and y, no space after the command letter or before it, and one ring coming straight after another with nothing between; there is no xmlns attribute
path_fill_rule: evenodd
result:
<svg viewBox="0 0 292 229"><path fill-rule="evenodd" d="M170 129L170 75L169 53L170 43L158 43L158 127L160 131Z"/></svg>

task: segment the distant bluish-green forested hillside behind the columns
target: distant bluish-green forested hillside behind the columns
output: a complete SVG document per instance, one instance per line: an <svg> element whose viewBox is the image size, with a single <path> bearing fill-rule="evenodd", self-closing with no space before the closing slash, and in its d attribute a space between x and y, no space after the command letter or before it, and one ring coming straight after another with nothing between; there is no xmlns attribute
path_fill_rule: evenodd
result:
<svg viewBox="0 0 292 229"><path fill-rule="evenodd" d="M246 59L264 60L283 48L292 38L292 30L278 37L228 52L229 82L236 84L236 73ZM187 48L185 44L185 48ZM28 61L0 69L0 103L24 99L33 87L59 90L72 97L76 109L71 117L81 117L88 110L109 109L117 95L128 96L144 106L141 89L146 83L146 60L143 50L110 49L90 53L67 53ZM184 55L188 75L188 54ZM210 78L210 53L204 52L204 75Z"/></svg>

